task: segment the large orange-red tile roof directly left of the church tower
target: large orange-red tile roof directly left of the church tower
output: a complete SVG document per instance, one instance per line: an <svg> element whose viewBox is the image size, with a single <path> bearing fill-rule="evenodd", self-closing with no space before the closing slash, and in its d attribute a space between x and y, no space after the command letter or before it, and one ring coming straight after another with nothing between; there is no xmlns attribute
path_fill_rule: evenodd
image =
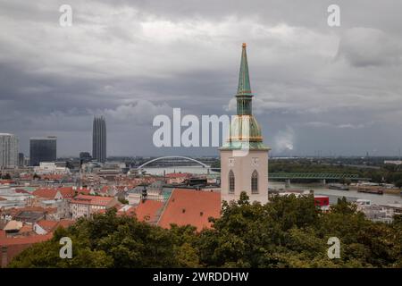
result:
<svg viewBox="0 0 402 286"><path fill-rule="evenodd" d="M170 228L171 223L177 225L191 224L197 231L210 228L208 218L221 216L221 194L218 192L173 189L171 198L161 215L158 225Z"/></svg>

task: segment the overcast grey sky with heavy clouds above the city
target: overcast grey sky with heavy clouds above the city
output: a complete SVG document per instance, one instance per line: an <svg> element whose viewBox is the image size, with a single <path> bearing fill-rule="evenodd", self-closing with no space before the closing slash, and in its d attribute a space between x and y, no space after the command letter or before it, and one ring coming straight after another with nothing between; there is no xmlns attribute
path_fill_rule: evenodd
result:
<svg viewBox="0 0 402 286"><path fill-rule="evenodd" d="M233 114L242 42L272 155L402 147L402 1L0 0L0 11L0 132L27 155L46 135L58 156L91 152L95 114L108 156L217 155L153 147L152 121L173 107Z"/></svg>

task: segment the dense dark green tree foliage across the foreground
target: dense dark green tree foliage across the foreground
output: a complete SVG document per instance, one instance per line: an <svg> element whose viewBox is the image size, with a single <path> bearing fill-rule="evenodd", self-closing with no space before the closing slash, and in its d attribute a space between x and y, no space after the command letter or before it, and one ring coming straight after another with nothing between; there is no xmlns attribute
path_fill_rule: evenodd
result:
<svg viewBox="0 0 402 286"><path fill-rule="evenodd" d="M402 217L373 223L345 199L322 213L312 196L250 204L245 193L223 204L214 227L165 230L115 210L58 229L52 240L24 250L11 267L402 267ZM70 237L71 259L59 240ZM340 258L330 259L330 237Z"/></svg>

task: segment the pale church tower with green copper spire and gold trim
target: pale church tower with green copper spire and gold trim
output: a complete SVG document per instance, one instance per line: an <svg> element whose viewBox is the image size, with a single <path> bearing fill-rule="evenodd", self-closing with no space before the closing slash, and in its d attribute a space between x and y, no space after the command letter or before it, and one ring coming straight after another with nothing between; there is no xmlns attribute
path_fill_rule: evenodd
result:
<svg viewBox="0 0 402 286"><path fill-rule="evenodd" d="M268 152L261 128L252 113L246 44L243 43L236 95L237 114L230 122L229 138L221 152L221 198L238 200L246 191L250 201L268 202Z"/></svg>

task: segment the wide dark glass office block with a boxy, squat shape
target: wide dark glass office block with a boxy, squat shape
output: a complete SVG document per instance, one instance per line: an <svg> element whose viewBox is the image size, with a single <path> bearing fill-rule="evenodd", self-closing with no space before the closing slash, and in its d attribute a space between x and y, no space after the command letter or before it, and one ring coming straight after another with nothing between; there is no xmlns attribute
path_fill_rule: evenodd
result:
<svg viewBox="0 0 402 286"><path fill-rule="evenodd" d="M32 137L29 139L29 164L38 166L40 162L55 162L57 159L57 137Z"/></svg>

